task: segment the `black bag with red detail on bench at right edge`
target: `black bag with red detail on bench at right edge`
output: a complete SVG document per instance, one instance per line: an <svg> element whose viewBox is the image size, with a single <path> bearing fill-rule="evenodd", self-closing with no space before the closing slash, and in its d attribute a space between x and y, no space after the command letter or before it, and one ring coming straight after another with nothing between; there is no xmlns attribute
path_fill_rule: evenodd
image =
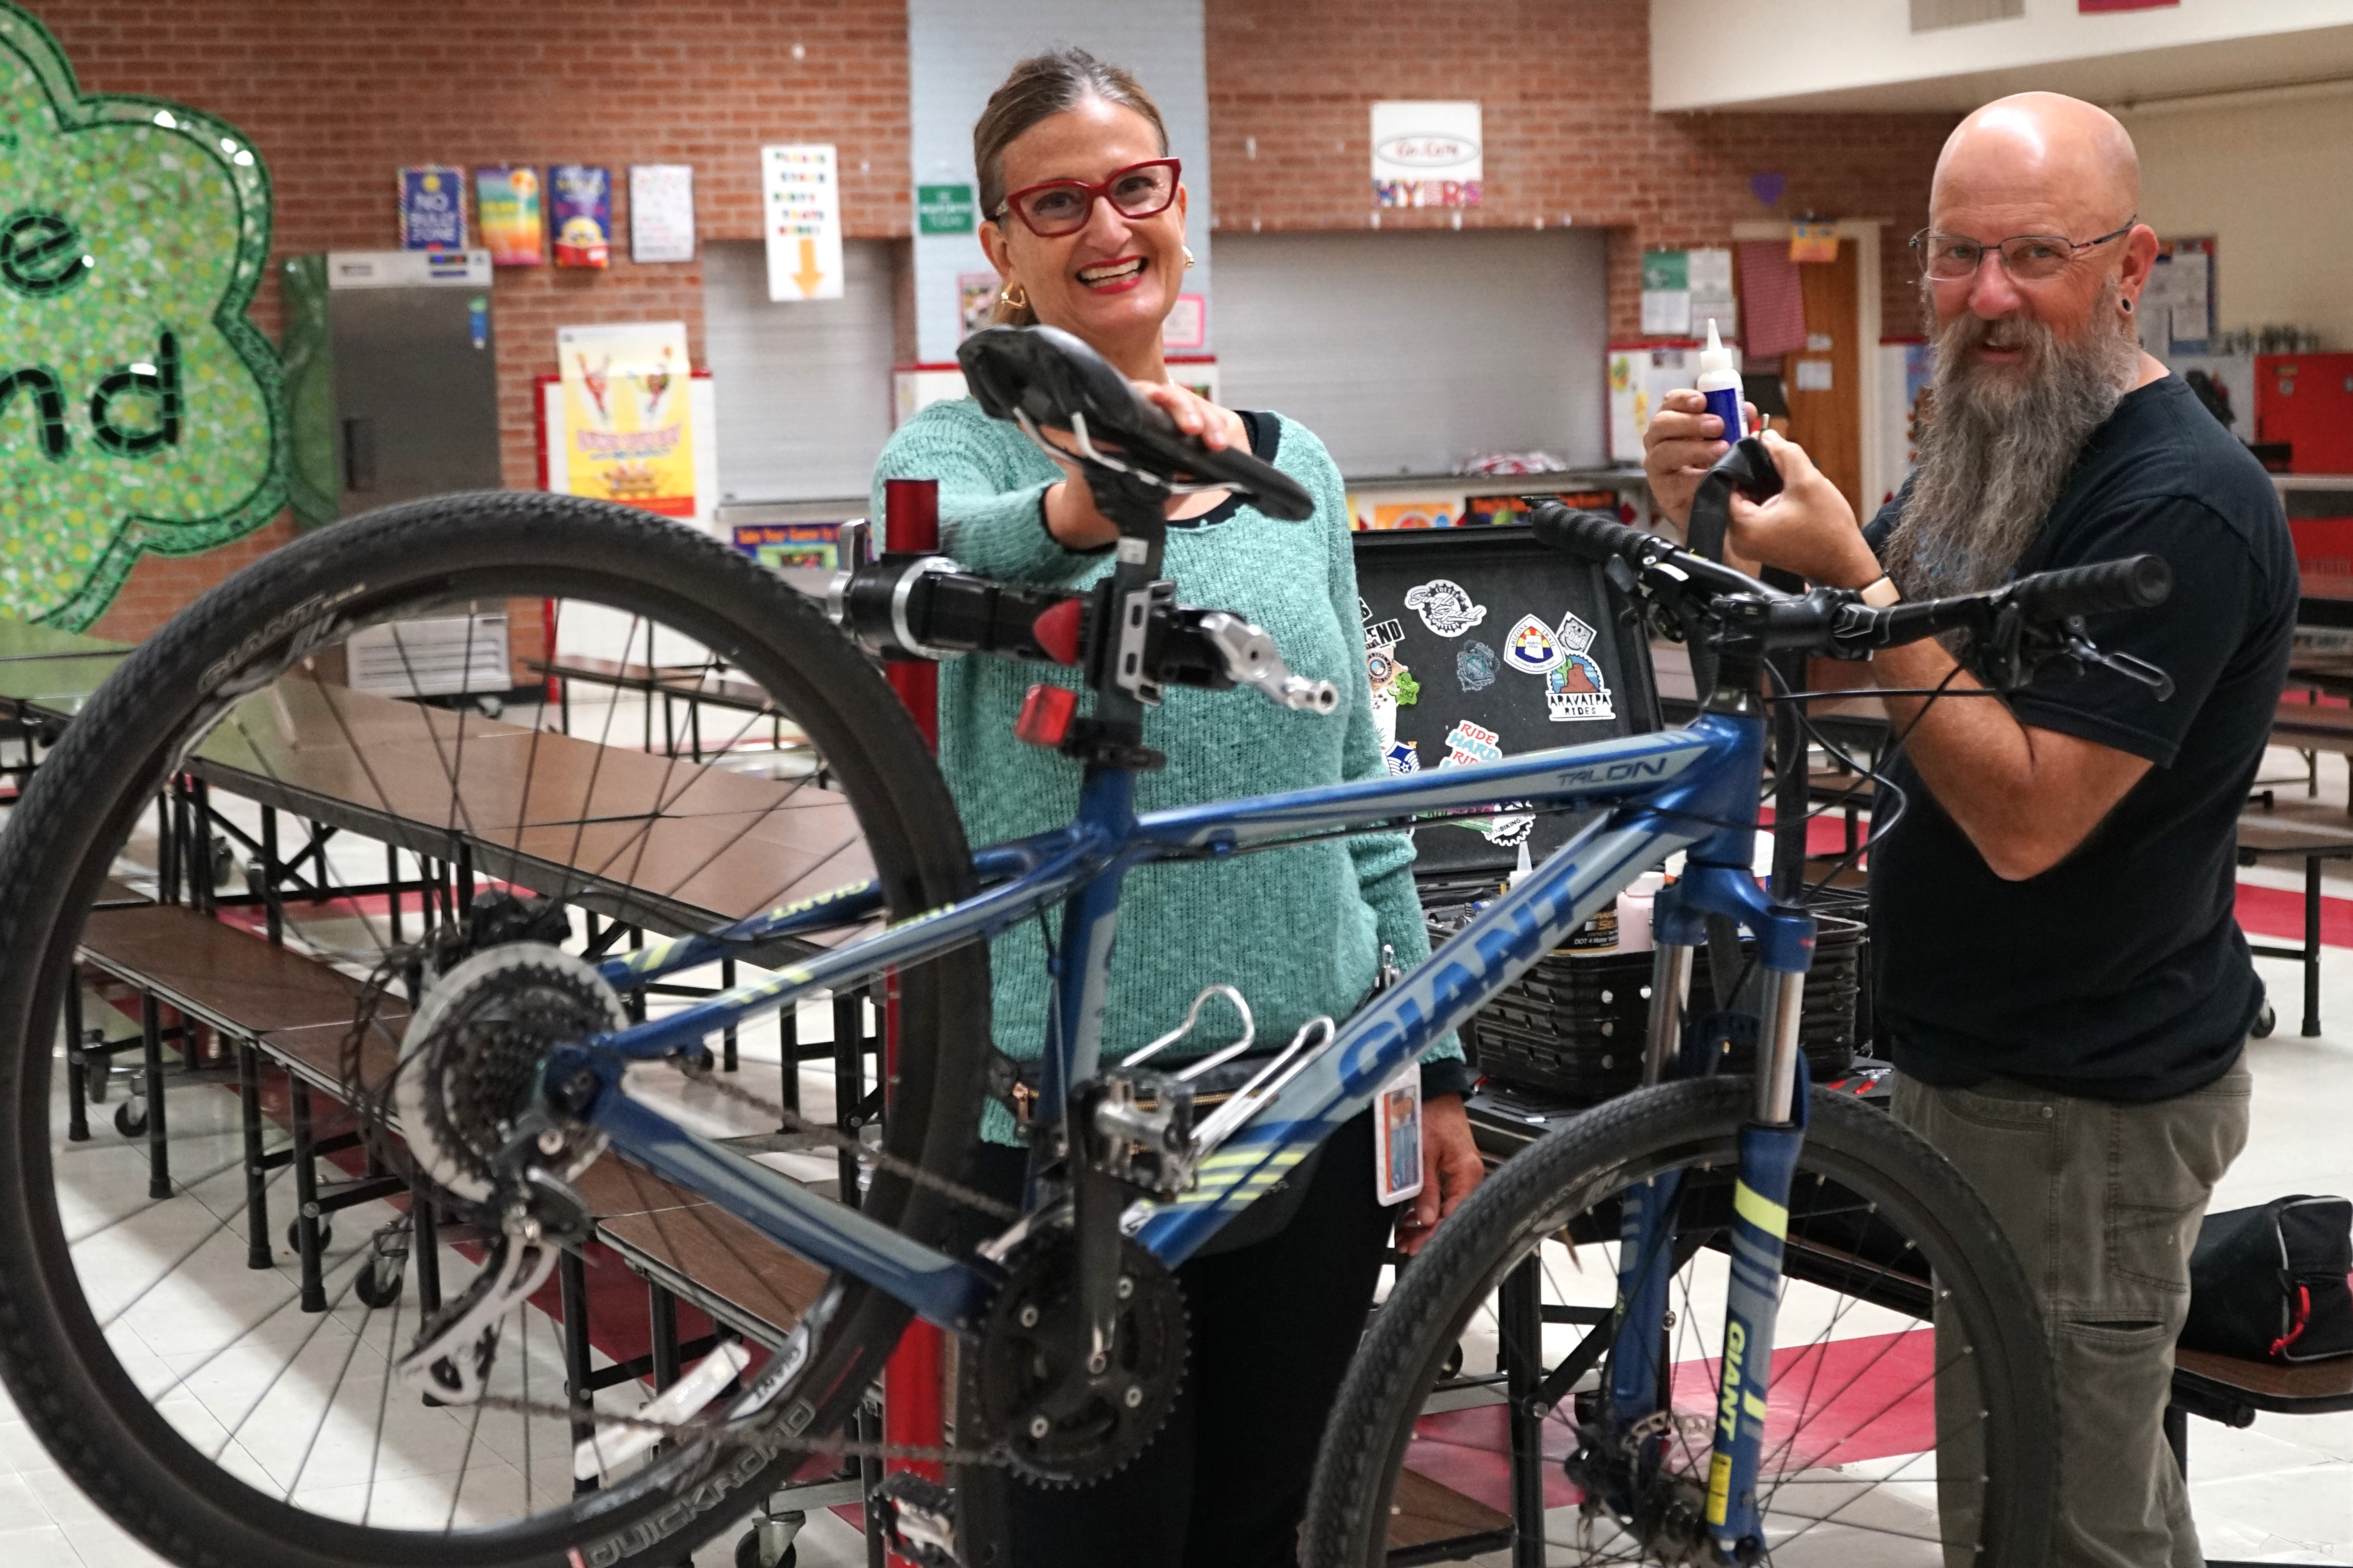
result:
<svg viewBox="0 0 2353 1568"><path fill-rule="evenodd" d="M2184 1349L2245 1361L2353 1354L2353 1201L2292 1194L2209 1213L2191 1251Z"/></svg>

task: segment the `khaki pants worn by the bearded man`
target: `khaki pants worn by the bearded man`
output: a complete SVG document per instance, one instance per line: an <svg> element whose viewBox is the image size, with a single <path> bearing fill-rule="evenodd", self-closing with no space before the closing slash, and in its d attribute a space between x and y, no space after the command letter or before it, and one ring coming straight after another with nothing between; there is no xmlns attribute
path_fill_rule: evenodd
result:
<svg viewBox="0 0 2353 1568"><path fill-rule="evenodd" d="M1934 1088L1897 1077L1897 1119L1969 1178L2042 1305L2059 1382L2059 1568L2205 1563L2165 1446L2165 1403L2191 1305L2191 1246L2214 1182L2247 1143L2252 1088L2245 1056L2205 1088L2158 1105L2078 1100L2009 1079ZM1946 1434L1937 1472L1974 1476L1979 1427L1962 1413L1974 1415L1977 1399L1948 1382L1937 1387ZM1939 1493L1946 1540L1974 1540L1974 1488Z"/></svg>

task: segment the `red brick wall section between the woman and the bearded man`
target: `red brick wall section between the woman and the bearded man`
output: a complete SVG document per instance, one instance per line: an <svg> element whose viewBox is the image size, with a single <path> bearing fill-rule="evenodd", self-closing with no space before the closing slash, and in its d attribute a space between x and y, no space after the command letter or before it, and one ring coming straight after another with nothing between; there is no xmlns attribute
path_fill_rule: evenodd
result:
<svg viewBox="0 0 2353 1568"><path fill-rule="evenodd" d="M1478 99L1485 205L1464 226L1609 230L1609 334L1640 327L1645 249L1725 244L1732 223L1887 219L1882 322L1911 331L1904 240L1927 221L1958 115L1654 115L1647 0L1205 0L1219 228L1372 223L1369 103ZM1252 141L1254 153L1252 155ZM1777 207L1748 176L1779 172ZM1442 228L1407 209L1384 226Z"/></svg>

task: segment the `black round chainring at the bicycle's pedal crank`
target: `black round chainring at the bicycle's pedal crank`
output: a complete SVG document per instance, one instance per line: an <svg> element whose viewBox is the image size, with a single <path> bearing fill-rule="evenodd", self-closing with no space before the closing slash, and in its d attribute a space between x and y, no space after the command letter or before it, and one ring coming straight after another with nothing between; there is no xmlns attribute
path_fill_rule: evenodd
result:
<svg viewBox="0 0 2353 1568"><path fill-rule="evenodd" d="M1186 1361L1184 1291L1134 1241L1120 1241L1120 1316L1111 1368L1080 1363L1078 1244L1031 1237L1005 1260L1005 1288L981 1326L976 1415L984 1441L1040 1486L1094 1486L1158 1436Z"/></svg>

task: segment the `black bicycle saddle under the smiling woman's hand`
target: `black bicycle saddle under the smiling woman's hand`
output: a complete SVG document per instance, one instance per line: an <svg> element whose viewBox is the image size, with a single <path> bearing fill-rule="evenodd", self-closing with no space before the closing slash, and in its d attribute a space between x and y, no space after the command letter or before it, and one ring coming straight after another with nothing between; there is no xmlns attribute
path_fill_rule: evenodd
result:
<svg viewBox="0 0 2353 1568"><path fill-rule="evenodd" d="M1221 484L1289 522L1315 512L1313 496L1287 473L1247 451L1209 451L1179 433L1176 421L1139 397L1104 355L1059 327L974 331L955 362L991 418L1019 423L1026 414L1038 430L1078 433L1085 425L1106 468L1125 465L1160 484Z"/></svg>

